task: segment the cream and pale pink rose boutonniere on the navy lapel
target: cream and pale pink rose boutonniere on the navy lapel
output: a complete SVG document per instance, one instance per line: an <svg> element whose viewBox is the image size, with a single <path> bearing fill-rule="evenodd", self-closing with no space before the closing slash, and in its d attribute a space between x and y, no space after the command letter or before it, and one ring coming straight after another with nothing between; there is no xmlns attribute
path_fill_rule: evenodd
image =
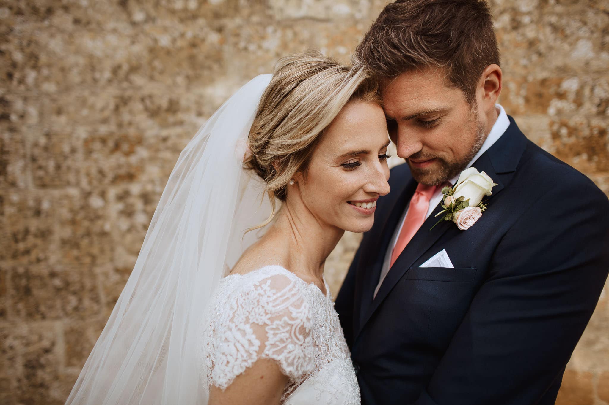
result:
<svg viewBox="0 0 609 405"><path fill-rule="evenodd" d="M487 209L488 204L482 202L482 197L493 194L491 189L496 185L485 172L478 172L476 168L465 169L459 175L456 186L442 189L444 209L435 216L444 214L444 217L435 225L452 220L460 230L469 229Z"/></svg>

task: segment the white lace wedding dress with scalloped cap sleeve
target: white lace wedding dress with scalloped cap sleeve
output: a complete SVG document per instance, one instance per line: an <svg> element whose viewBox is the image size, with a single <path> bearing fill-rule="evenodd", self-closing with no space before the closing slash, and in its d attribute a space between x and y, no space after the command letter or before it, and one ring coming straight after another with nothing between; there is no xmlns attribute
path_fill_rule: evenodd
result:
<svg viewBox="0 0 609 405"><path fill-rule="evenodd" d="M325 281L324 281L325 284ZM281 266L220 280L199 333L201 378L225 389L259 358L289 383L283 405L359 404L359 386L334 303Z"/></svg>

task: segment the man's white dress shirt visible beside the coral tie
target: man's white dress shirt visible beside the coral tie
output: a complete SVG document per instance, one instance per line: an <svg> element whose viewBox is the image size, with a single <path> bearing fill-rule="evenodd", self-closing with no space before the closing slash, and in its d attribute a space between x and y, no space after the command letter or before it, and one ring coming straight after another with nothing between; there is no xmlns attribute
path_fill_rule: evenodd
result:
<svg viewBox="0 0 609 405"><path fill-rule="evenodd" d="M503 109L503 107L500 106L499 104L495 104L495 108L497 109L497 114L498 114L497 120L495 121L495 124L493 124L493 128L491 128L491 132L488 133L487 139L482 144L482 148L480 148L478 153L473 157L472 160L470 160L470 163L468 163L468 165L466 166L465 169L470 168L471 165L473 165L473 163L476 162L476 160L484 152L486 152L488 150L488 148L493 146L493 144L499 138L501 138L501 135L503 135L505 130L507 129L507 127L510 126L510 120L509 120L509 118L507 118L507 114L505 114L505 110ZM455 177L453 177L451 180L449 180L449 183L454 184L457 182L457 180L459 180L459 174L457 174ZM425 219L428 219L428 217L431 215L431 213L434 212L435 207L437 207L438 204L442 201L442 197L443 197L442 189L437 189L437 191L435 191L435 193L434 193L434 196L432 196L431 199L429 199L429 209L427 210ZM382 268L381 268L381 277L379 277L379 283L378 283L378 285L376 285L375 297L376 297L376 293L378 293L379 288L381 288L382 281L385 279L385 276L387 276L387 273L389 273L389 264L391 262L391 255L393 253L393 248L395 248L396 243L398 243L398 236L400 236L402 226L404 226L404 220L406 219L407 213L408 213L408 206L406 206L406 209L404 210L404 214L402 215L402 217L400 219L400 226L398 226L396 228L395 232L393 233L392 241L391 241L391 243L389 243L389 247L387 247L387 253L385 253L385 260L384 260Z"/></svg>

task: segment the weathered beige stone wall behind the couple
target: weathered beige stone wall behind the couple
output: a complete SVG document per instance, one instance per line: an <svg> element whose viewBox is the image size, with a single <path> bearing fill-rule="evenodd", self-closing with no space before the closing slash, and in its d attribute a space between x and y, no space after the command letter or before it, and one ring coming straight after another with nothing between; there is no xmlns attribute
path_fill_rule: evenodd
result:
<svg viewBox="0 0 609 405"><path fill-rule="evenodd" d="M384 3L0 0L0 403L63 403L211 112L286 53L347 60ZM609 192L607 0L491 5L501 103ZM328 260L335 295L358 242ZM607 290L558 404L609 404Z"/></svg>

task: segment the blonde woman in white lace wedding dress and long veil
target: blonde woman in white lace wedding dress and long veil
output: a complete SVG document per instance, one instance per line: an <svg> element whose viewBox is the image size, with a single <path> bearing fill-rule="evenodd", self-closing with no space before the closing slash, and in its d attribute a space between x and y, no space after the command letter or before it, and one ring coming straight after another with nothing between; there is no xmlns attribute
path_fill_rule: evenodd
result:
<svg viewBox="0 0 609 405"><path fill-rule="evenodd" d="M67 403L359 404L323 268L371 228L388 145L363 67L307 52L241 87L181 153Z"/></svg>

